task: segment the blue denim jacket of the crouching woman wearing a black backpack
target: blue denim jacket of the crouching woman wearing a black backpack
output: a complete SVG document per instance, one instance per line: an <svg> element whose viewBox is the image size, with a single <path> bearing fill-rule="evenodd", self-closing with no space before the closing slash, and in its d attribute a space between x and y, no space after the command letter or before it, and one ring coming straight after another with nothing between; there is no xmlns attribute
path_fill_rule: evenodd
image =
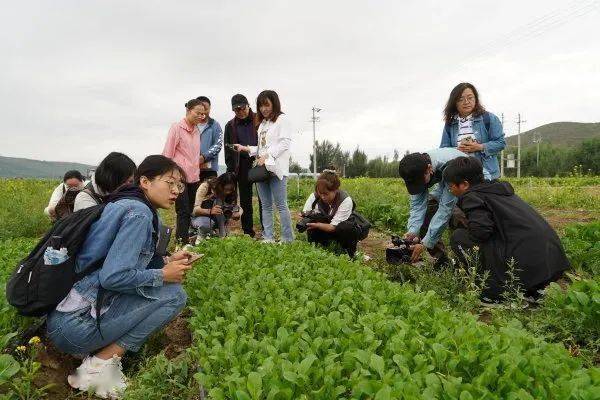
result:
<svg viewBox="0 0 600 400"><path fill-rule="evenodd" d="M107 290L103 304L110 304L119 293L152 298L144 288L163 285L162 270L148 268L150 261L155 261L152 232L152 212L144 203L134 199L108 203L90 227L75 269L81 272L102 258L104 264L75 283L73 289L92 305L100 285Z"/></svg>

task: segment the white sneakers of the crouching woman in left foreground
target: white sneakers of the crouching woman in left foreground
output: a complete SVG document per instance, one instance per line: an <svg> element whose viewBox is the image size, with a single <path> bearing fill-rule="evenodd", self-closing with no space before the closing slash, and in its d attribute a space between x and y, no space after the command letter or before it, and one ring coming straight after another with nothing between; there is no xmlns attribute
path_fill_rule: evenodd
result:
<svg viewBox="0 0 600 400"><path fill-rule="evenodd" d="M81 391L91 391L103 399L120 399L127 387L121 358L108 360L86 357L74 375L67 377L69 385Z"/></svg>

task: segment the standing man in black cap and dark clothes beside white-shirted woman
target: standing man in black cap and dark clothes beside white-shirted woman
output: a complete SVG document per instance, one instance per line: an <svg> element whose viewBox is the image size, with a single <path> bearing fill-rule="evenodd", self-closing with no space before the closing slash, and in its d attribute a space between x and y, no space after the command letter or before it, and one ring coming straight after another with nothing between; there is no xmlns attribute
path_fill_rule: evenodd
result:
<svg viewBox="0 0 600 400"><path fill-rule="evenodd" d="M227 172L234 172L237 175L240 206L244 210L242 230L245 234L254 237L252 183L248 182L248 171L252 168L254 157L250 157L246 152L235 151L233 145L256 146L258 144L255 116L244 95L236 94L233 96L231 108L235 113L235 117L225 125L225 164L227 165ZM260 199L258 206L258 215L262 221Z"/></svg>

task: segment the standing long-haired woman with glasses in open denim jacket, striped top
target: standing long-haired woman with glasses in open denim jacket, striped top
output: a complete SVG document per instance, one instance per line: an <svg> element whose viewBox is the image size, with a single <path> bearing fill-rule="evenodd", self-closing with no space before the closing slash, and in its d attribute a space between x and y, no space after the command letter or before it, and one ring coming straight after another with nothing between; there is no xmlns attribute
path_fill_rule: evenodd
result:
<svg viewBox="0 0 600 400"><path fill-rule="evenodd" d="M497 116L487 112L479 93L470 83L459 83L450 92L444 109L444 131L440 147L456 147L483 164L487 180L500 177L498 154L506 147Z"/></svg>

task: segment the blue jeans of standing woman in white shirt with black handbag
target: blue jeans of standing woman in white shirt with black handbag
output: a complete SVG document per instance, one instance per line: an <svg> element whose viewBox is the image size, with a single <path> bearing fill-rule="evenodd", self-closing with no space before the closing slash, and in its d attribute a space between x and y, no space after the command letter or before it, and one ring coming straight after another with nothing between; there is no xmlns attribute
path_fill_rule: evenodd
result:
<svg viewBox="0 0 600 400"><path fill-rule="evenodd" d="M281 220L281 241L294 240L292 217L287 205L287 178L279 179L273 176L264 182L257 182L256 187L262 203L263 237L268 240L273 239L273 202L275 202Z"/></svg>

